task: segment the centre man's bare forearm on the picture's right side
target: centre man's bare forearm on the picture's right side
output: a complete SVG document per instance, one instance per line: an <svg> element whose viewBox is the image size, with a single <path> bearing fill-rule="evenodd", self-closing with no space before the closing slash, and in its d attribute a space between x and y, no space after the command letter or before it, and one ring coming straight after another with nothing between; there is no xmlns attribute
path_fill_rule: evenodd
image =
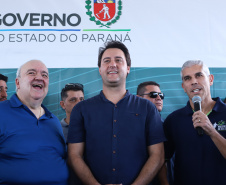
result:
<svg viewBox="0 0 226 185"><path fill-rule="evenodd" d="M132 185L148 184L164 163L163 143L148 146L149 158Z"/></svg>

